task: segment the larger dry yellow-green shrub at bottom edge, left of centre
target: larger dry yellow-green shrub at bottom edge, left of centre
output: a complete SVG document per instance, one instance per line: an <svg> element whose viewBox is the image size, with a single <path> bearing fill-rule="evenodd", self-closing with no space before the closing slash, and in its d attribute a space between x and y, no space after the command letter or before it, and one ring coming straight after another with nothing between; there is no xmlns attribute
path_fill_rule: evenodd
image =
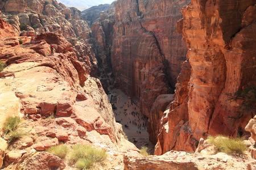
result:
<svg viewBox="0 0 256 170"><path fill-rule="evenodd" d="M106 151L101 148L77 144L72 147L71 160L76 162L80 169L89 169L95 163L102 163L107 157Z"/></svg>

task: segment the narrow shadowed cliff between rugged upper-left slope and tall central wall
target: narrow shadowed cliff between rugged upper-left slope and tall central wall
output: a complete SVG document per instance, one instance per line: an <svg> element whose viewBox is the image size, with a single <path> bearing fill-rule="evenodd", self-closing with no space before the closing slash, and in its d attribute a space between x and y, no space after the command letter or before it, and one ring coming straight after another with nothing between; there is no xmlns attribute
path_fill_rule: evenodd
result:
<svg viewBox="0 0 256 170"><path fill-rule="evenodd" d="M98 77L106 93L109 91L109 85L113 86L114 78L112 73L112 63L110 52L113 39L115 8L114 4L108 7L108 10L101 12L100 18L92 23L92 42L95 56L98 61ZM88 14L85 15L88 17Z"/></svg>

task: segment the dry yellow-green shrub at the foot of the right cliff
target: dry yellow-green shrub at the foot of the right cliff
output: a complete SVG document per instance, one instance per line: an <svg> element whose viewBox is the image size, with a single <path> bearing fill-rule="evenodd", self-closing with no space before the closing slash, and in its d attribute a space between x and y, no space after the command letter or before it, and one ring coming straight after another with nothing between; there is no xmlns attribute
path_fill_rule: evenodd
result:
<svg viewBox="0 0 256 170"><path fill-rule="evenodd" d="M209 136L207 138L209 143L212 143L216 147L217 152L224 152L226 154L241 154L247 148L243 143L243 138L229 138L222 135L217 137Z"/></svg>

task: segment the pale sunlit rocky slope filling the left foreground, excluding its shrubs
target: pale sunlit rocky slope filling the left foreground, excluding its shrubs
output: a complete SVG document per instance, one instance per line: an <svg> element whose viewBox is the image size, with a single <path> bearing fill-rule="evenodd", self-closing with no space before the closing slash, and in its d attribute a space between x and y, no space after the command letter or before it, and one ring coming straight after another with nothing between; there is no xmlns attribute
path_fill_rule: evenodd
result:
<svg viewBox="0 0 256 170"><path fill-rule="evenodd" d="M119 152L138 149L123 138L100 80L88 75L88 66L77 60L72 45L53 32L34 41L15 37L14 28L0 20L0 59L8 65L0 72L0 125L8 116L20 116L24 120L19 130L27 133L8 145L8 139L1 138L1 167L3 161L7 169L64 169L69 165L63 160L37 151L84 143L104 148L113 160L108 166L122 169Z"/></svg>

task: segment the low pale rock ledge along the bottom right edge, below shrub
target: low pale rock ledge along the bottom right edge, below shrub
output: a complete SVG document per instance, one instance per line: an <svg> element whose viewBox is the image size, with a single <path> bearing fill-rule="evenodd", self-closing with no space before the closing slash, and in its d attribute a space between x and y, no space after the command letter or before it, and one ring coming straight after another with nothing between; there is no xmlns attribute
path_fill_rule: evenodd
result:
<svg viewBox="0 0 256 170"><path fill-rule="evenodd" d="M203 141L207 143L207 141ZM208 151L208 152L206 152ZM241 159L224 153L214 153L214 146L206 145L201 153L189 154L184 151L168 151L166 154L141 157L125 154L125 169L253 169L255 160Z"/></svg>

